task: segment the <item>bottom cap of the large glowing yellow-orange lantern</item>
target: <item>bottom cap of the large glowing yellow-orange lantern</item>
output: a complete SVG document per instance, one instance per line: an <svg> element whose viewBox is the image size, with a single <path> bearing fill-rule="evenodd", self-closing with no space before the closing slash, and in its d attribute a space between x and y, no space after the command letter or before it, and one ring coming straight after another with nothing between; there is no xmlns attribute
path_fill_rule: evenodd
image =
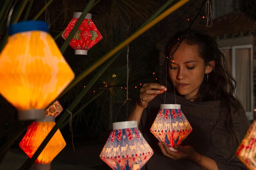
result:
<svg viewBox="0 0 256 170"><path fill-rule="evenodd" d="M19 110L19 120L36 120L41 119L45 116L44 109L30 109L30 110Z"/></svg>

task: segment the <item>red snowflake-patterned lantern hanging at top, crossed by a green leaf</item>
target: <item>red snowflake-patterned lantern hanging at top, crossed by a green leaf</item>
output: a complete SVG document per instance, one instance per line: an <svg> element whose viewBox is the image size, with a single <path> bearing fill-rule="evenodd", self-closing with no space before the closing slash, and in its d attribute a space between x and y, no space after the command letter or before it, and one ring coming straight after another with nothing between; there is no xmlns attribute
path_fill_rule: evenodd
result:
<svg viewBox="0 0 256 170"><path fill-rule="evenodd" d="M61 35L63 39L67 39L68 35L74 28L74 25L78 21L81 14L81 12L74 13L72 20L67 25L67 28ZM101 39L101 33L92 22L92 14L88 13L83 19L83 22L81 23L79 28L77 29L74 37L70 41L70 46L74 48L75 54L87 55L87 51Z"/></svg>

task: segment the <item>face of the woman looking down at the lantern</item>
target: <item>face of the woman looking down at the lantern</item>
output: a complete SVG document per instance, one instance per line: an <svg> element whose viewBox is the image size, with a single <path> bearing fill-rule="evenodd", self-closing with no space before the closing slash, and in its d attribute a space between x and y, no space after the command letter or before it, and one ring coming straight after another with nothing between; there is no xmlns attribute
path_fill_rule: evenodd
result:
<svg viewBox="0 0 256 170"><path fill-rule="evenodd" d="M174 61L168 64L168 72L175 89L188 100L197 98L204 73L212 68L204 65L204 60L198 54L198 46L180 44L174 53Z"/></svg>

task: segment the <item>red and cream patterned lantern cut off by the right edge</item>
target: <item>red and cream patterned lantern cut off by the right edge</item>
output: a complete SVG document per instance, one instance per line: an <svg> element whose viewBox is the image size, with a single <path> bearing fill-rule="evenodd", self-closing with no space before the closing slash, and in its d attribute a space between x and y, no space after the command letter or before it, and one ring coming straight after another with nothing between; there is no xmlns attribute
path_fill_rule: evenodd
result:
<svg viewBox="0 0 256 170"><path fill-rule="evenodd" d="M236 155L249 170L256 169L256 120L247 130L244 139L236 150Z"/></svg>

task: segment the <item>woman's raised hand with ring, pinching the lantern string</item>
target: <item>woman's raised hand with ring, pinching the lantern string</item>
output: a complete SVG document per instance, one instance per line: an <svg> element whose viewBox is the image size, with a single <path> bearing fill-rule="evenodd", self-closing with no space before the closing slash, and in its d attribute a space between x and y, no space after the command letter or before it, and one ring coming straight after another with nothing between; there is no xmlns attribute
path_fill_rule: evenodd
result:
<svg viewBox="0 0 256 170"><path fill-rule="evenodd" d="M148 102L153 100L158 94L164 93L165 91L167 91L167 88L163 85L158 83L146 83L140 89L137 104L140 107L146 108L148 106Z"/></svg>

